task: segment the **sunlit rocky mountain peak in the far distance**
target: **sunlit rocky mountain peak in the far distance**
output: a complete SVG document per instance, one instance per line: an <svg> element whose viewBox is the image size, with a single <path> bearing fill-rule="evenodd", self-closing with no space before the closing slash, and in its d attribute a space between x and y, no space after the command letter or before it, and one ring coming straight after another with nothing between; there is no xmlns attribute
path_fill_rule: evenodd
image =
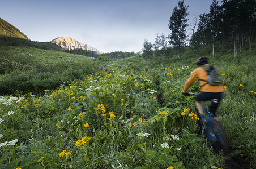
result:
<svg viewBox="0 0 256 169"><path fill-rule="evenodd" d="M50 41L52 43L56 43L58 46L65 48L66 50L81 48L83 50L90 50L97 52L97 54L103 54L103 51L96 49L95 47L91 47L88 44L84 44L82 42L76 41L71 37L58 37Z"/></svg>

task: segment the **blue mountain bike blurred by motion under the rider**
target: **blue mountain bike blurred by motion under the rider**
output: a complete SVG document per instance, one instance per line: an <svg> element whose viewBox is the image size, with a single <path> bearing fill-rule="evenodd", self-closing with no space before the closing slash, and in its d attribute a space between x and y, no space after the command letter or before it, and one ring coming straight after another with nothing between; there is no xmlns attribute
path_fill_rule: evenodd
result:
<svg viewBox="0 0 256 169"><path fill-rule="evenodd" d="M190 95L198 95L193 93L187 93ZM202 103L203 105L203 103ZM208 112L206 107L203 105L204 109L204 121L203 123L199 122L199 127L202 128L203 134L207 137L208 143L212 146L212 149L215 153L223 152L223 155L229 154L229 145L228 145L228 137L225 134L224 127L222 124L216 119L212 118L211 113ZM197 108L195 108L195 112L198 113ZM199 114L198 114L199 117Z"/></svg>

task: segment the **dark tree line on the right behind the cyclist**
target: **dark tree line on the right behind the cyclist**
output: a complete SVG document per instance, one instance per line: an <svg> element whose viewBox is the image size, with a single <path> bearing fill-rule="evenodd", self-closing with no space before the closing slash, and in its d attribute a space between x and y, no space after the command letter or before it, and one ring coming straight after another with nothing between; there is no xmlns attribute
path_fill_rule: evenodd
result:
<svg viewBox="0 0 256 169"><path fill-rule="evenodd" d="M188 24L187 9L189 6L184 1L179 1L174 7L169 20L170 34L165 37L157 34L155 43L145 39L143 43L143 55L150 57L156 52L168 54L172 50L176 57L180 57L185 46L194 48L195 54L203 46L211 47L212 55L216 48L221 51L232 50L234 56L241 48L251 51L253 42L256 41L256 1L255 0L223 0L220 3L213 0L210 12L194 16ZM189 38L187 29L192 34Z"/></svg>

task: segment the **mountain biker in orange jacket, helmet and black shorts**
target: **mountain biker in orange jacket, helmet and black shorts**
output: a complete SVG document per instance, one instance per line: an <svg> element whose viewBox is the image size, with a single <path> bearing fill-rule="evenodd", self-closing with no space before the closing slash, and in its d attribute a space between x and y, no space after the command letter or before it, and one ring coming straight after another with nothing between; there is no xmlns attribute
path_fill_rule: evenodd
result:
<svg viewBox="0 0 256 169"><path fill-rule="evenodd" d="M208 66L207 57L199 57L195 63L197 64L198 68L193 71L190 75L189 79L187 79L184 88L182 90L182 94L187 96L187 90L194 84L195 80L199 79L200 84L200 92L195 97L195 105L197 106L198 113L199 113L199 121L203 123L204 121L204 109L201 101L210 100L210 114L214 119L217 120L216 110L219 106L222 94L224 92L223 84L219 86L211 86L207 84L208 75L206 70L203 68L204 66Z"/></svg>

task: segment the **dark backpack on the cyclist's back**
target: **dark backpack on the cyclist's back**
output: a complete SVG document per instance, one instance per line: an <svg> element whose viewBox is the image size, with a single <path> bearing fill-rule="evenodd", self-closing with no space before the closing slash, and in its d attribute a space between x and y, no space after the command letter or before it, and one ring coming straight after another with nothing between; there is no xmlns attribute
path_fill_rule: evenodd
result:
<svg viewBox="0 0 256 169"><path fill-rule="evenodd" d="M199 79L200 81L207 82L206 84L210 84L212 86L219 86L220 84L223 84L222 75L219 70L214 68L214 66L207 65L207 66L203 66L203 68L204 70L206 70L208 74L208 80L205 81L205 80Z"/></svg>

